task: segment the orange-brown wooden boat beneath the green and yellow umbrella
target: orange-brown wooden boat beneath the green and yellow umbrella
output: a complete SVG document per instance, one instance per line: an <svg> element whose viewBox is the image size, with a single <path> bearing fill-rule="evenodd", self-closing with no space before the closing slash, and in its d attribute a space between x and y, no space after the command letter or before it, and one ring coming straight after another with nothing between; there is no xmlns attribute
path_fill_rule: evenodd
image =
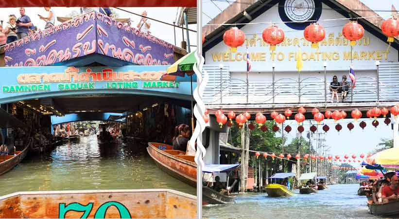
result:
<svg viewBox="0 0 399 219"><path fill-rule="evenodd" d="M173 146L152 142L148 143L147 151L163 171L191 186L197 186L197 164L194 156L173 150Z"/></svg>

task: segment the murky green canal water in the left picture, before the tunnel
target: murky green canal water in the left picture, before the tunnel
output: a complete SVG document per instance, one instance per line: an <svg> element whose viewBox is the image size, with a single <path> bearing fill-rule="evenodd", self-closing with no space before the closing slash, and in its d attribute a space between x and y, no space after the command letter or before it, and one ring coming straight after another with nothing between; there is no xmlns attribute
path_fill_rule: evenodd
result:
<svg viewBox="0 0 399 219"><path fill-rule="evenodd" d="M17 191L170 188L196 194L195 188L159 169L145 146L98 145L95 135L56 146L45 155L29 154L0 176L0 195Z"/></svg>

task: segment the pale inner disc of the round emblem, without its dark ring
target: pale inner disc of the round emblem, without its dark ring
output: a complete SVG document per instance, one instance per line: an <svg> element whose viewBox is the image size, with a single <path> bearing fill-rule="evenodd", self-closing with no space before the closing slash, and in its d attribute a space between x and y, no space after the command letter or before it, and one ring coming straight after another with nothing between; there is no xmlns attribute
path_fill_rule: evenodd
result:
<svg viewBox="0 0 399 219"><path fill-rule="evenodd" d="M314 15L314 0L286 0L284 12L292 21L307 21Z"/></svg>

